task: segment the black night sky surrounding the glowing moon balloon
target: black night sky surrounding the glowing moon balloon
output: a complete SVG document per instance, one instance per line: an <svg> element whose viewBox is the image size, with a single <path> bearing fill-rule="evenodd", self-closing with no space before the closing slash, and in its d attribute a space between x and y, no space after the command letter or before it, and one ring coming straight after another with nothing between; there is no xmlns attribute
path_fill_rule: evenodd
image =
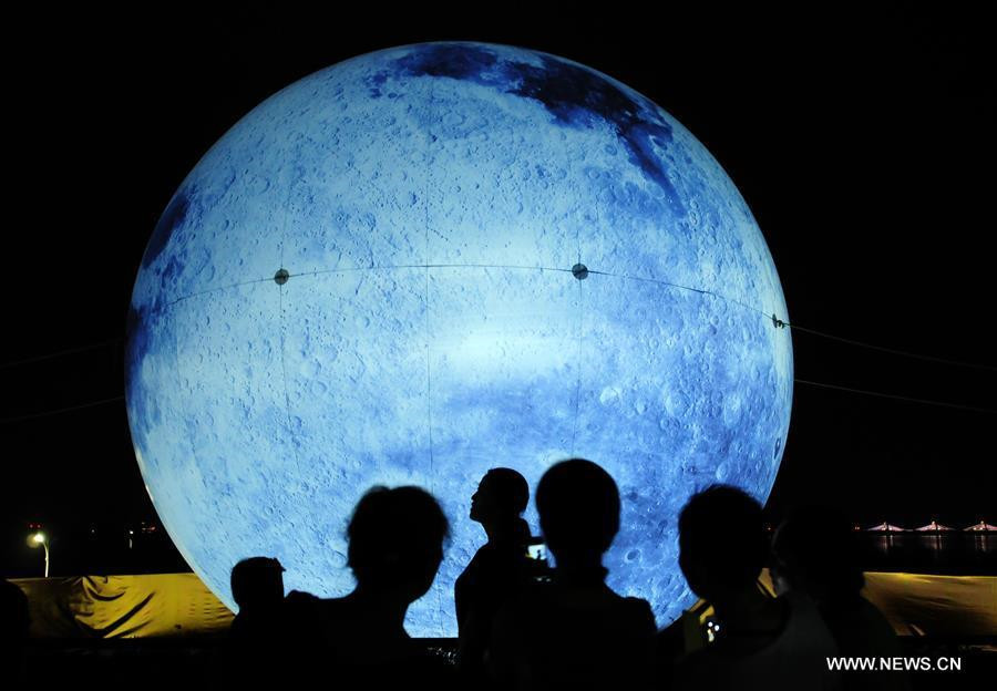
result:
<svg viewBox="0 0 997 691"><path fill-rule="evenodd" d="M798 380L997 411L988 24L973 16L720 14L475 19L469 9L465 18L384 11L360 21L172 8L12 18L2 534L21 535L30 520L155 518L120 396L130 293L160 214L207 148L275 91L346 58L421 41L522 45L633 86L738 185L793 324L986 365L796 330ZM85 350L34 360L74 349ZM770 514L819 502L868 525L995 523L995 427L997 413L798 383Z"/></svg>

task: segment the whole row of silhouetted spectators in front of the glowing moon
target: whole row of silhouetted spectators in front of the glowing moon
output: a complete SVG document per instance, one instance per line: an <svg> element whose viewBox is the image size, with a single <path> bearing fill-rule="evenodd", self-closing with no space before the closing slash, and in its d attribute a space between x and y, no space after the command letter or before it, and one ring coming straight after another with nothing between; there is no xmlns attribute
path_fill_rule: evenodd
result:
<svg viewBox="0 0 997 691"><path fill-rule="evenodd" d="M748 494L713 485L693 495L679 516L679 565L701 606L658 631L647 600L606 585L620 517L613 477L583 458L543 475L535 505L553 567L530 554L528 499L526 479L504 467L471 497L469 518L486 539L454 585L455 664L403 626L450 529L435 498L404 486L374 487L357 504L347 529L357 586L345 597L284 596L276 559L235 566L233 669L246 683L319 674L335 689L908 688L898 673L829 669L832 657L898 654L888 623L860 595L851 530L829 510L793 514L770 547ZM774 596L760 581L767 565Z"/></svg>

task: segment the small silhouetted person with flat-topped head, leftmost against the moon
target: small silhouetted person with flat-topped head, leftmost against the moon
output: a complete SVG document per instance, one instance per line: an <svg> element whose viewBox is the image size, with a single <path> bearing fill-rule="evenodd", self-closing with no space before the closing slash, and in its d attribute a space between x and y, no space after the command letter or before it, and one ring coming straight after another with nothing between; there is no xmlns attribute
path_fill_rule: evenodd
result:
<svg viewBox="0 0 997 691"><path fill-rule="evenodd" d="M238 640L268 640L278 635L284 604L284 567L269 557L243 559L232 569L232 597L239 612L229 636Z"/></svg>

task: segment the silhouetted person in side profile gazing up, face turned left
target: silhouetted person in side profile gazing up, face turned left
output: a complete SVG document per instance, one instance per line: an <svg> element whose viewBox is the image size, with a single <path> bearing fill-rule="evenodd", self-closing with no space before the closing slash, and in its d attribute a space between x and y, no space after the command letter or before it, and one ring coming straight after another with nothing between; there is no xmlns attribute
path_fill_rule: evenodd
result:
<svg viewBox="0 0 997 691"><path fill-rule="evenodd" d="M530 526L521 517L530 501L526 478L511 468L492 468L471 497L471 519L489 540L454 584L462 673L482 681L484 654L498 607L526 580Z"/></svg>

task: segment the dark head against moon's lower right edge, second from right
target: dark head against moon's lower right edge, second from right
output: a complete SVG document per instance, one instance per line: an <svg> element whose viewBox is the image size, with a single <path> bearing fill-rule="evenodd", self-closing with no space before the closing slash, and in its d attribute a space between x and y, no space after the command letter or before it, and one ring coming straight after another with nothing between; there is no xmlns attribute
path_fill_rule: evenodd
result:
<svg viewBox="0 0 997 691"><path fill-rule="evenodd" d="M768 553L757 501L713 485L689 499L678 527L679 566L696 595L716 604L753 586Z"/></svg>

